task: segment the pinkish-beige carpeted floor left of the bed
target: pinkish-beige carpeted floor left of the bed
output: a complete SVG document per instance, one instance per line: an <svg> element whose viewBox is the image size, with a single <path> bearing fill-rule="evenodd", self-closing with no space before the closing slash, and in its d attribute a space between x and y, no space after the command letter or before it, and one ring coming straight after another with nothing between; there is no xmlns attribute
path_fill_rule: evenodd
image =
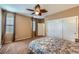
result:
<svg viewBox="0 0 79 59"><path fill-rule="evenodd" d="M5 44L0 49L0 54L26 54L27 46L28 46L29 42L32 40L33 39L26 39L23 41Z"/></svg>

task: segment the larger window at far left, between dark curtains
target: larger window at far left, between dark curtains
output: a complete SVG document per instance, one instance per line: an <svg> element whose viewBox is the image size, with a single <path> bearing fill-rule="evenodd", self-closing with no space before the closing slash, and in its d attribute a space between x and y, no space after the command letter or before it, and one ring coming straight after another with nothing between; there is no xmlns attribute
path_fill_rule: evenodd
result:
<svg viewBox="0 0 79 59"><path fill-rule="evenodd" d="M6 16L6 33L14 32L14 15L11 13L7 13Z"/></svg>

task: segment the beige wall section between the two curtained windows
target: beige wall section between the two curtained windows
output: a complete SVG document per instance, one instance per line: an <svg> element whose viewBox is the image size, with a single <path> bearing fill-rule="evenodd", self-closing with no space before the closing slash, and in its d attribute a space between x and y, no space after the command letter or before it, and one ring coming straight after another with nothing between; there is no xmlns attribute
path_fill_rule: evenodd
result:
<svg viewBox="0 0 79 59"><path fill-rule="evenodd" d="M32 21L30 17L25 17L16 14L16 30L15 39L22 40L31 38L32 36Z"/></svg>

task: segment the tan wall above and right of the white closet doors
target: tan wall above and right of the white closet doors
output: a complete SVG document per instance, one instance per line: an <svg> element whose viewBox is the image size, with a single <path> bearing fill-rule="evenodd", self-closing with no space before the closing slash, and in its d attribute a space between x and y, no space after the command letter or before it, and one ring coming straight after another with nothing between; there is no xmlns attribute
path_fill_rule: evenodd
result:
<svg viewBox="0 0 79 59"><path fill-rule="evenodd" d="M49 15L45 18L45 21L59 19L59 18L66 18L71 16L78 16L79 19L79 6ZM79 21L78 21L78 25L79 25ZM78 26L78 33L79 33L79 26ZM78 38L79 38L79 34L78 34Z"/></svg>

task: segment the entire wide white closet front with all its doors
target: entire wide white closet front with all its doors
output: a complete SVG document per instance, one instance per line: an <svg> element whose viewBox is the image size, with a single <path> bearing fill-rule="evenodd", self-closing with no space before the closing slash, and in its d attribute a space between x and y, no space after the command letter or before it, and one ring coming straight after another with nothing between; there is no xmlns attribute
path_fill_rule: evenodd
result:
<svg viewBox="0 0 79 59"><path fill-rule="evenodd" d="M46 34L54 39L75 41L78 39L78 17L67 17L46 21Z"/></svg>

